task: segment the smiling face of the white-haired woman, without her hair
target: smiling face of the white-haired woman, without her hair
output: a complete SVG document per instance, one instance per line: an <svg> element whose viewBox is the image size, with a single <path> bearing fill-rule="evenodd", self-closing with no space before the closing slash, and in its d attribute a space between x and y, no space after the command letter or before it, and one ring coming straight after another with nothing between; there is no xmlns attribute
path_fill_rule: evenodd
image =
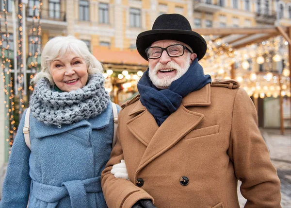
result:
<svg viewBox="0 0 291 208"><path fill-rule="evenodd" d="M50 73L57 87L69 92L86 85L88 70L83 58L75 53L67 52L50 63Z"/></svg>

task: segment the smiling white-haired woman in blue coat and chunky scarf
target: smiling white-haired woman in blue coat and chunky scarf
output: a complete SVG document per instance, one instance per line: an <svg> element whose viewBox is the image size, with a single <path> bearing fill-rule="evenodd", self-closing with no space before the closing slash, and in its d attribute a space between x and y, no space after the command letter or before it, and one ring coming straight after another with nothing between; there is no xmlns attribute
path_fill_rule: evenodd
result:
<svg viewBox="0 0 291 208"><path fill-rule="evenodd" d="M72 36L42 52L30 102L30 141L12 147L0 208L106 208L100 175L113 141L113 110L100 62ZM25 115L26 112L24 112Z"/></svg>

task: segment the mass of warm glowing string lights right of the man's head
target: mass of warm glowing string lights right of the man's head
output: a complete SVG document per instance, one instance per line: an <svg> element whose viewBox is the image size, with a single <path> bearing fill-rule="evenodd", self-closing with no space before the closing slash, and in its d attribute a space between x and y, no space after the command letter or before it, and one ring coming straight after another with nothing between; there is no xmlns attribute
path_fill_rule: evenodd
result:
<svg viewBox="0 0 291 208"><path fill-rule="evenodd" d="M281 36L235 51L220 38L212 41L210 35L206 39L209 39L206 58L200 64L212 79L231 78L234 64L236 76L232 78L241 83L249 96L278 97L281 93L291 97L288 42Z"/></svg>

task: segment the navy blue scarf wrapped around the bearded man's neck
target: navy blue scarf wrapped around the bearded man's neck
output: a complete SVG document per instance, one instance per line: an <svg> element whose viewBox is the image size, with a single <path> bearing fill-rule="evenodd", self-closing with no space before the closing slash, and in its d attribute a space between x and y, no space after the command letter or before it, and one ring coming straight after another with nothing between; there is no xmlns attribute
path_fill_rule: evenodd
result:
<svg viewBox="0 0 291 208"><path fill-rule="evenodd" d="M173 81L167 89L155 87L148 77L148 70L139 80L137 88L141 103L146 106L159 126L178 109L183 97L211 83L210 75L204 75L197 58L194 59L186 73Z"/></svg>

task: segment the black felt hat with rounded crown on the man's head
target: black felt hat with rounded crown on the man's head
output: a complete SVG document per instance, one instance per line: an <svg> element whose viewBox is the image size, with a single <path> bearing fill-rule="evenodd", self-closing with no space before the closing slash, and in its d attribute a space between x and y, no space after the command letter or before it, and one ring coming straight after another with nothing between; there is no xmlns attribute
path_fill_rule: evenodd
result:
<svg viewBox="0 0 291 208"><path fill-rule="evenodd" d="M192 31L189 21L179 14L160 15L154 22L152 30L140 33L136 38L139 54L147 60L146 49L158 40L178 40L189 45L197 54L198 60L203 58L207 50L205 39Z"/></svg>

